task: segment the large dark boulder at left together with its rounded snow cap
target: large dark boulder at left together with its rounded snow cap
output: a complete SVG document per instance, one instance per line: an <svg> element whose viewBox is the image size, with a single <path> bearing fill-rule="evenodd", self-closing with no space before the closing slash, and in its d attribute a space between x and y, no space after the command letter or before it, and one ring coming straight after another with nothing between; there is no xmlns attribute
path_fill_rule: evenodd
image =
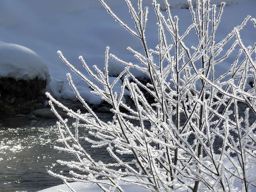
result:
<svg viewBox="0 0 256 192"><path fill-rule="evenodd" d="M0 42L0 113L28 114L44 107L42 90L50 80L48 67L38 54Z"/></svg>

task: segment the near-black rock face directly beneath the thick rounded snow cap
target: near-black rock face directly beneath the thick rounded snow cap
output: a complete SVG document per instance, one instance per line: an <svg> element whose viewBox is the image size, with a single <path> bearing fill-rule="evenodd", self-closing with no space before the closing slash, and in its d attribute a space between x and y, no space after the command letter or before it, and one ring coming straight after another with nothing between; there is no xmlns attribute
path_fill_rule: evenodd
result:
<svg viewBox="0 0 256 192"><path fill-rule="evenodd" d="M15 80L14 78L0 78L1 95L9 94L18 98L34 99L46 87L46 80L34 78L32 80Z"/></svg>

